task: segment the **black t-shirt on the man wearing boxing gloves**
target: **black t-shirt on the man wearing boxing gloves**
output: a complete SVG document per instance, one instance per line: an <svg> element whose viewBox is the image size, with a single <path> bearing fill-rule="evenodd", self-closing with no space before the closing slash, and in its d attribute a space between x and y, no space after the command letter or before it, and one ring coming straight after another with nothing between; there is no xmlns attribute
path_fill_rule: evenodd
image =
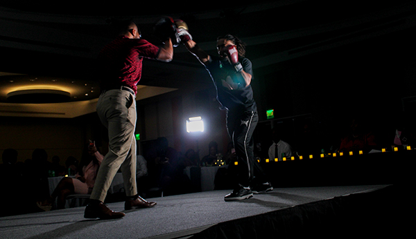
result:
<svg viewBox="0 0 416 239"><path fill-rule="evenodd" d="M240 57L239 61L246 73L252 75L252 63L249 59ZM257 105L254 101L251 85L245 87L241 73L236 73L227 59L211 56L205 64L217 90L217 100L230 112L254 111Z"/></svg>

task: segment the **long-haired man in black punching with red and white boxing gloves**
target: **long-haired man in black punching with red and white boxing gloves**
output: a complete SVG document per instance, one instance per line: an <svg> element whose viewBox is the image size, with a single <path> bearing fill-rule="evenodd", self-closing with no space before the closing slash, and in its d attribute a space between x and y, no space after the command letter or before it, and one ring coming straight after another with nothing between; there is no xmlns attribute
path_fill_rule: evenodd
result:
<svg viewBox="0 0 416 239"><path fill-rule="evenodd" d="M177 23L177 29L181 42L207 68L216 87L217 100L227 110L227 131L238 159L238 185L224 199L243 200L251 198L253 193L271 191L272 185L254 158L252 134L259 116L250 85L252 63L244 57L245 45L233 35L218 37L218 56L211 56L192 40L184 23Z"/></svg>

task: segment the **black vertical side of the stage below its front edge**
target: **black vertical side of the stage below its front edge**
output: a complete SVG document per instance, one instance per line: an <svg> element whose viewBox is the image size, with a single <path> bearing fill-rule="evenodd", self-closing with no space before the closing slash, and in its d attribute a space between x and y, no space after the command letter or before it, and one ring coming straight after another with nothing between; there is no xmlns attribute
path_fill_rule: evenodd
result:
<svg viewBox="0 0 416 239"><path fill-rule="evenodd" d="M399 236L395 187L272 211L217 224L202 238L390 238ZM394 237L393 237L394 238Z"/></svg>

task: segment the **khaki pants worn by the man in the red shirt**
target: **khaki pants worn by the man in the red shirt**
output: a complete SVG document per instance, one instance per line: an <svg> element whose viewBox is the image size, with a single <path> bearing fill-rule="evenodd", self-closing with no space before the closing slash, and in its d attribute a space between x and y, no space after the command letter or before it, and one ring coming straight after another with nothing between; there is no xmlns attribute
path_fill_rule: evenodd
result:
<svg viewBox="0 0 416 239"><path fill-rule="evenodd" d="M120 168L126 195L137 195L135 95L128 90L106 90L98 99L97 113L108 129L109 151L98 169L90 198L104 202Z"/></svg>

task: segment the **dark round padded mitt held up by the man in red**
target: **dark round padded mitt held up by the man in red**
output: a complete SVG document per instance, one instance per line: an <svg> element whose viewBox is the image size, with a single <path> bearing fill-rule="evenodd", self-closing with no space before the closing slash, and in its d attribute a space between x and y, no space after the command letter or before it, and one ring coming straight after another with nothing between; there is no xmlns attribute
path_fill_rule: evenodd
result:
<svg viewBox="0 0 416 239"><path fill-rule="evenodd" d="M180 37L177 33L175 22L171 17L162 17L159 19L153 27L153 32L161 41L166 41L170 38L174 47L180 44Z"/></svg>

